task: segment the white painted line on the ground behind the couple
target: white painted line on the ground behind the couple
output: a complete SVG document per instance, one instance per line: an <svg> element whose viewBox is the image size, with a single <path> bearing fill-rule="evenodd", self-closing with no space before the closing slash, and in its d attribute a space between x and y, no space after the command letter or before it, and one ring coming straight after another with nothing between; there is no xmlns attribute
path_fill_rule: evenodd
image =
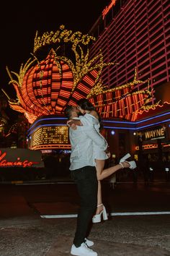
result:
<svg viewBox="0 0 170 256"><path fill-rule="evenodd" d="M166 212L136 212L136 213L110 213L110 216L143 216L143 215L163 215L170 214ZM41 218L76 218L77 214L57 214L57 215L41 215Z"/></svg>

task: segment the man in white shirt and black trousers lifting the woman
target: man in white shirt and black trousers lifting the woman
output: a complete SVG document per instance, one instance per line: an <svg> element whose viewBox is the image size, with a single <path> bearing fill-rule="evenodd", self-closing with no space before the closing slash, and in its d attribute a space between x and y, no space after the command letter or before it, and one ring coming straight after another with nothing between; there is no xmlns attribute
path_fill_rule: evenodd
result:
<svg viewBox="0 0 170 256"><path fill-rule="evenodd" d="M79 119L79 110L68 106L65 109L68 119ZM93 145L107 149L107 142L91 125L69 129L71 142L71 176L77 185L81 206L78 213L76 233L71 247L71 255L97 256L89 249L94 244L86 239L91 218L97 208L97 171L94 161Z"/></svg>

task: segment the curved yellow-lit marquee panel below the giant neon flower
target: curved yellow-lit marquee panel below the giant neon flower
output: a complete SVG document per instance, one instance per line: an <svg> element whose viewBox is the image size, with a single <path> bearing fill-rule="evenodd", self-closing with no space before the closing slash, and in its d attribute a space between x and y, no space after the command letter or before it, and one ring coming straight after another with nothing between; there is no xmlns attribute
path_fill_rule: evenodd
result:
<svg viewBox="0 0 170 256"><path fill-rule="evenodd" d="M43 125L30 136L30 149L70 148L68 127L65 125Z"/></svg>

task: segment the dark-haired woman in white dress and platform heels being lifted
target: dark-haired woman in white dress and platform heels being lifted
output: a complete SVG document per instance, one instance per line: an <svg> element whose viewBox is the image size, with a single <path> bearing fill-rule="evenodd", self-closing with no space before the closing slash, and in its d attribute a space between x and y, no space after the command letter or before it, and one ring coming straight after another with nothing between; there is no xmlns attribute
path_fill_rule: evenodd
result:
<svg viewBox="0 0 170 256"><path fill-rule="evenodd" d="M86 99L81 98L77 102L78 108L81 111L81 114L83 116L79 116L79 120L70 119L68 120L67 124L71 125L73 129L76 129L76 125L82 125L84 121L88 124L93 124L95 129L97 129L97 132L100 132L101 129L101 120L99 117L99 114L97 113L94 106ZM100 134L101 135L101 134ZM101 135L102 136L102 135ZM112 166L110 168L107 168L104 170L104 162L107 158L109 158L110 153L104 148L99 148L98 145L93 145L94 148L94 158L96 161L96 169L97 169L97 179L98 179L98 193L97 193L97 210L92 218L93 223L98 223L101 221L101 216L104 220L107 220L107 212L106 209L102 203L102 187L101 187L101 180L106 178L107 176L113 174L115 171L120 169L120 166ZM125 163L125 159L129 158L130 154L125 155L124 158L120 160L120 165L122 168L130 167L130 162ZM132 161L134 162L134 161ZM131 163L132 164L132 163Z"/></svg>

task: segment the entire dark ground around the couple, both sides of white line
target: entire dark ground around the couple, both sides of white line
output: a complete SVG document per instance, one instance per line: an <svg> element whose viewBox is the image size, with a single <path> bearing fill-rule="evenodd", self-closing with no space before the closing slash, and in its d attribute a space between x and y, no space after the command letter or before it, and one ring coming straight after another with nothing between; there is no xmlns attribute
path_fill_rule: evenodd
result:
<svg viewBox="0 0 170 256"><path fill-rule="evenodd" d="M99 256L170 255L169 182L103 182L102 191L112 216L91 226ZM0 255L70 256L78 208L73 183L1 184Z"/></svg>

